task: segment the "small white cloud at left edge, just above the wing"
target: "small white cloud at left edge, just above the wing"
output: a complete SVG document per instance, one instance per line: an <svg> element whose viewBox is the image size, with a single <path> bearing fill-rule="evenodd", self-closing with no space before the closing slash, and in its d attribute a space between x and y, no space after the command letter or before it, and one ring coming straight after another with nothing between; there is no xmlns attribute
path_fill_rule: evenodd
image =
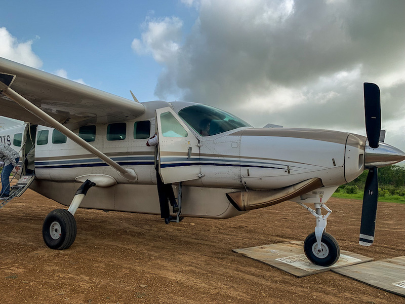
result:
<svg viewBox="0 0 405 304"><path fill-rule="evenodd" d="M33 40L18 42L17 38L10 34L6 27L0 27L0 42L0 57L34 68L42 67L41 59L32 51Z"/></svg>

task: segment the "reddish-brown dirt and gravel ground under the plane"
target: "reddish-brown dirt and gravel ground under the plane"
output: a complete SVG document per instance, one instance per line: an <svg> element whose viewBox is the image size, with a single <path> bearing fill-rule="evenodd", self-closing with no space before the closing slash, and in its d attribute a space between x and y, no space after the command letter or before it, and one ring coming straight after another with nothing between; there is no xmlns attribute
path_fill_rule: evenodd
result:
<svg viewBox="0 0 405 304"><path fill-rule="evenodd" d="M405 254L405 205L379 203L371 247L358 245L360 201L331 199L328 207L328 232L341 249L374 259ZM168 225L157 215L79 209L76 240L62 251L42 239L43 220L56 208L65 207L28 190L0 210L2 303L405 302L332 272L296 278L232 252L303 241L314 218L292 202Z"/></svg>

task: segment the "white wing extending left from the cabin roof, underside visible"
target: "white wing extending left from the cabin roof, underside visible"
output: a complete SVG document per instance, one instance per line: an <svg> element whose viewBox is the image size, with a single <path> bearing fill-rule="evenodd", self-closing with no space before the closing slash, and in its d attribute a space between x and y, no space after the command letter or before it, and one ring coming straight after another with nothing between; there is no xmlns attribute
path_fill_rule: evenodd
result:
<svg viewBox="0 0 405 304"><path fill-rule="evenodd" d="M145 110L139 102L1 57L0 81L71 130L87 124L129 121ZM0 115L48 125L4 94L0 94Z"/></svg>

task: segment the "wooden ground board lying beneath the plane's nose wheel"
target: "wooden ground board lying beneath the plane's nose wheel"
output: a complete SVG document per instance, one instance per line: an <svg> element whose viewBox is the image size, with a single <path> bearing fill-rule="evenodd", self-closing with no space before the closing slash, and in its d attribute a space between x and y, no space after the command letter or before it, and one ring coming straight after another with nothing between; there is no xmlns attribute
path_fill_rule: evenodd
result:
<svg viewBox="0 0 405 304"><path fill-rule="evenodd" d="M339 260L331 267L311 263L304 254L304 242L285 242L250 248L233 249L234 252L284 270L296 277L305 277L331 269L372 261L372 258L341 250Z"/></svg>

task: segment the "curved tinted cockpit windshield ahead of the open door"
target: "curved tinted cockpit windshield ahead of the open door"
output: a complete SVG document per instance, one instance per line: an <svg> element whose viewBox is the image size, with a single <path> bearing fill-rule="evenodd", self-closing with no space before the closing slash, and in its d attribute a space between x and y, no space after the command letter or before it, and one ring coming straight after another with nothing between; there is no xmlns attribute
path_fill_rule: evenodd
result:
<svg viewBox="0 0 405 304"><path fill-rule="evenodd" d="M181 109L179 116L201 136L211 136L240 127L252 127L228 112L204 104Z"/></svg>

